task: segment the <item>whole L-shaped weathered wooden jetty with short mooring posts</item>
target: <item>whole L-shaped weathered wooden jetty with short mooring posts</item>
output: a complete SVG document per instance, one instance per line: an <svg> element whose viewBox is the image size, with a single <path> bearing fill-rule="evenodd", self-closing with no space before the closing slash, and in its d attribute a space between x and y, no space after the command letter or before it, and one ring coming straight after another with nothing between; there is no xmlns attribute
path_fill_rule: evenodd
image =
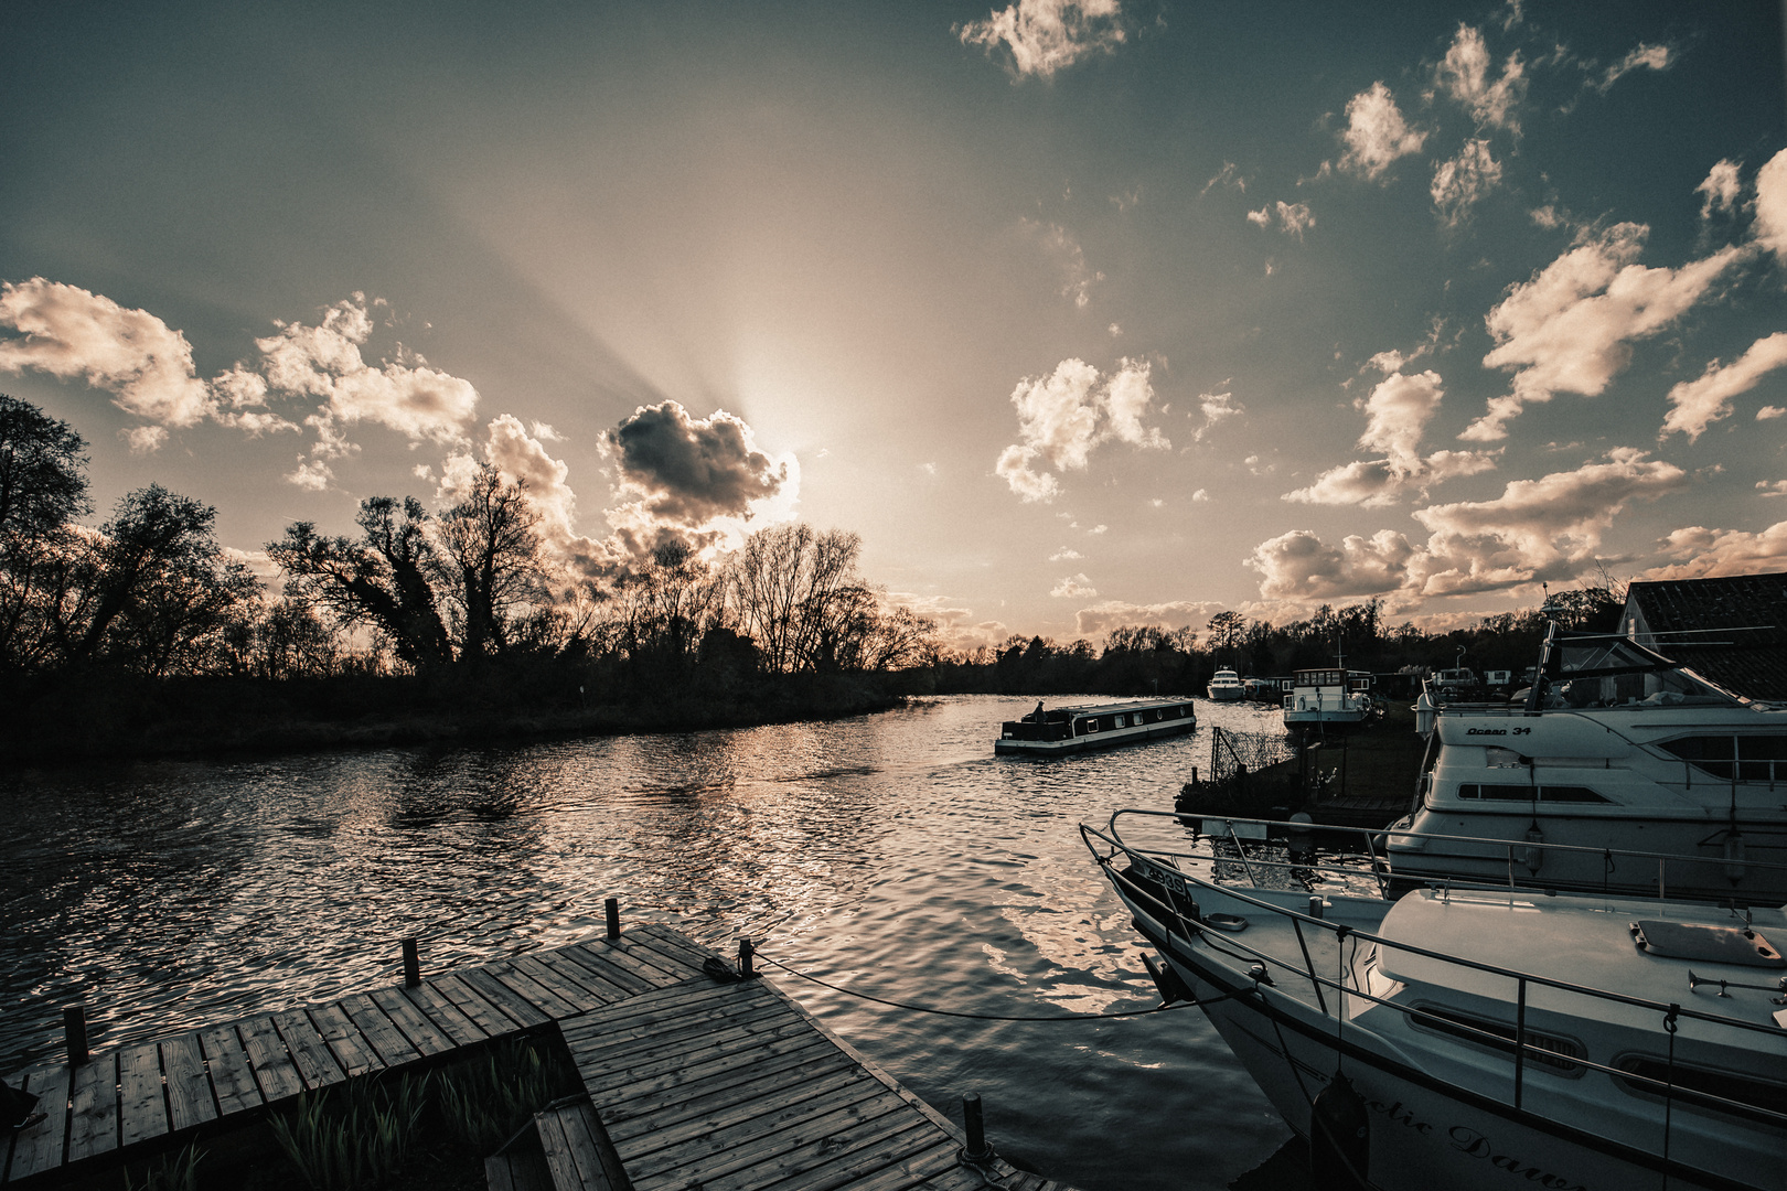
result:
<svg viewBox="0 0 1787 1191"><path fill-rule="evenodd" d="M1070 1191L995 1155L761 977L645 923L340 1000L34 1068L41 1125L0 1141L0 1184L48 1186L248 1123L298 1093L558 1030L588 1098L536 1114L493 1191ZM73 1048L73 1057L84 1043ZM541 1182L540 1159L550 1182Z"/></svg>

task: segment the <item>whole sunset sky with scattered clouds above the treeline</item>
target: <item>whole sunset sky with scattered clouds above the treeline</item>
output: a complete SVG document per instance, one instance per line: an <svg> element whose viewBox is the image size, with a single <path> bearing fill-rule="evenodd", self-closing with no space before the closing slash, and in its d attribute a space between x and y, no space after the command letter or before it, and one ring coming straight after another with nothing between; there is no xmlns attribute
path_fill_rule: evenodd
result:
<svg viewBox="0 0 1787 1191"><path fill-rule="evenodd" d="M0 391L250 561L524 479L970 648L1787 570L1782 5L18 4Z"/></svg>

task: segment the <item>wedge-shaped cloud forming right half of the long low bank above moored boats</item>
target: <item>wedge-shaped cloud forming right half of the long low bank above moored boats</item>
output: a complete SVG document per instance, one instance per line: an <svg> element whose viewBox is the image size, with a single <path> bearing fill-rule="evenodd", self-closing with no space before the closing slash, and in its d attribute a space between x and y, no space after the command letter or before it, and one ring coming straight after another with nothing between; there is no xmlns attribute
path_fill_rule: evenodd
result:
<svg viewBox="0 0 1787 1191"><path fill-rule="evenodd" d="M1567 579L1594 557L1601 534L1628 504L1683 487L1682 468L1615 448L1605 462L1514 480L1496 500L1417 509L1414 516L1431 537L1412 577L1428 596Z"/></svg>

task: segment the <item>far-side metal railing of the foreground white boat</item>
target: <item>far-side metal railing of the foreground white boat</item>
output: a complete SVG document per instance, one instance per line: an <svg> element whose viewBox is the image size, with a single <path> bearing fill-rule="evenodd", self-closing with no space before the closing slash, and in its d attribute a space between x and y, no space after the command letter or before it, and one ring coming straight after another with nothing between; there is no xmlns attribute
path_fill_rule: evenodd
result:
<svg viewBox="0 0 1787 1191"><path fill-rule="evenodd" d="M1669 900L1671 889L1676 889L1674 900L1692 900L1692 902L1708 900L1703 895L1680 889L1678 887L1680 882L1671 884L1669 879L1671 864L1674 866L1676 875L1680 875L1683 868L1705 870L1707 866L1717 866L1724 873L1724 877L1733 882L1755 875L1755 877L1773 879L1774 886L1787 884L1787 864L1782 864L1778 861L1739 859L1735 855L1733 857L1682 855L1678 852L1594 848L1594 846L1569 845L1569 843L1544 843L1544 841L1506 839L1494 836L1458 836L1447 832L1424 832L1424 830L1397 829L1397 827L1383 827L1383 829L1342 827L1330 823L1299 823L1288 820L1249 820L1235 816L1185 814L1179 811L1138 811L1138 809L1117 811L1112 816L1112 834L1117 834L1117 820L1122 816L1176 820L1181 827L1188 827L1192 830L1194 843L1197 841L1199 836L1204 836L1208 839L1219 839L1226 845L1231 845L1235 850L1231 855L1204 855L1190 852L1188 854L1163 852L1163 855L1172 855L1176 859L1188 859L1201 864L1208 864L1212 861L1238 861L1242 871L1246 871L1247 875L1247 882L1254 886L1258 886L1260 880L1256 879L1253 870L1254 866L1260 866L1269 870L1283 870L1288 873L1296 873L1299 877L1305 873L1321 873L1349 880L1358 877L1371 877L1378 886L1378 893L1381 896L1390 896L1392 880L1396 879L1396 871L1388 864L1387 857L1387 843L1390 839L1396 839L1399 843L1439 841L1442 845L1467 845L1481 848L1485 854L1499 854L1506 864L1505 887L1508 889L1528 889L1540 893L1546 889L1556 889L1558 884L1555 879L1540 877L1540 873L1546 871L1544 864L1546 855L1578 855L1589 861L1601 861L1603 871L1607 873L1617 871L1623 862L1644 868L1655 864L1657 866L1655 896L1658 902ZM1210 825L1217 825L1217 830L1208 830ZM1324 861L1315 855L1306 855L1303 859L1292 857L1283 861L1276 857L1260 855L1258 852L1254 852L1254 855L1247 855L1249 843L1256 845L1271 839L1285 843L1294 852L1313 854L1315 852L1313 845L1317 836L1321 836L1324 846L1330 845L1335 837L1356 839L1356 846L1349 852L1349 855L1353 855L1360 864L1365 864L1367 868L1360 868L1360 864L1335 864L1331 861ZM1306 846L1299 846L1299 837L1303 843L1306 843ZM1333 846L1326 846L1326 850L1333 854L1346 852L1344 848L1333 848ZM1480 855L1472 859L1487 861L1492 857ZM1417 880L1421 884L1428 884L1424 875ZM1503 882L1489 886L1481 880L1453 880L1449 882L1449 887L1485 889L1485 887L1503 887ZM1581 886L1573 886L1573 891L1594 893L1592 889L1583 889ZM1601 893L1615 893L1615 891L1603 889ZM1635 893L1632 889L1630 879L1621 882L1621 889L1617 889L1617 893L1621 896L1648 896ZM1719 896L1714 900L1724 902L1726 898Z"/></svg>

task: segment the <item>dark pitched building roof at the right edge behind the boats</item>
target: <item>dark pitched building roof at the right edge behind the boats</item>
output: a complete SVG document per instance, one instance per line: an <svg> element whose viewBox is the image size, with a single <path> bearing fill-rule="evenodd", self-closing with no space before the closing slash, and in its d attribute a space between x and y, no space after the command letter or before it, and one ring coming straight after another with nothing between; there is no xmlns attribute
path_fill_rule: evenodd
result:
<svg viewBox="0 0 1787 1191"><path fill-rule="evenodd" d="M1787 702L1787 571L1632 584L1623 623L1733 695Z"/></svg>

